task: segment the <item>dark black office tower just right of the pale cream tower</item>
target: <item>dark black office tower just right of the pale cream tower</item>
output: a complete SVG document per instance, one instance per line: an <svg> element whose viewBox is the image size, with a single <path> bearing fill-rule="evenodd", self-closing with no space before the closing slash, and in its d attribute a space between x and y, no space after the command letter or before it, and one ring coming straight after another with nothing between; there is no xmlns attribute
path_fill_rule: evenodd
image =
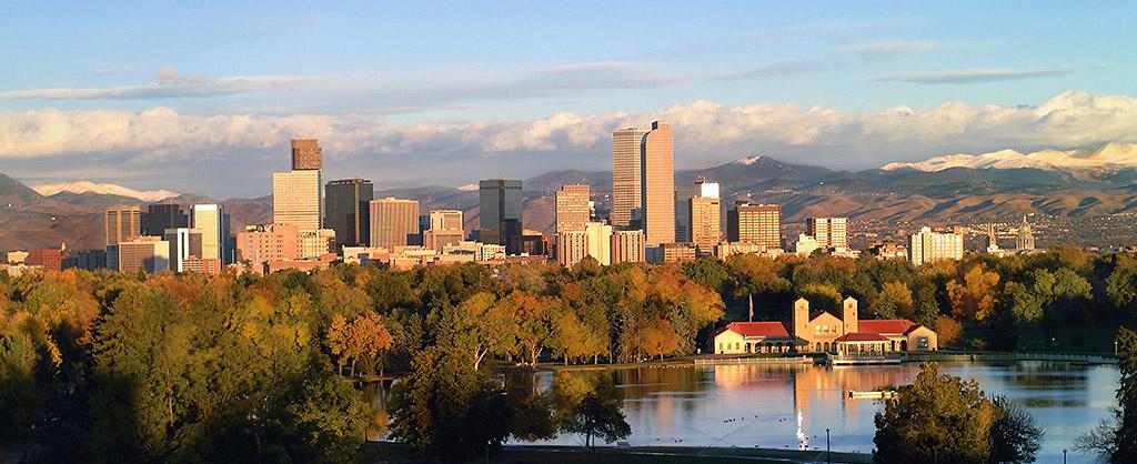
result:
<svg viewBox="0 0 1137 464"><path fill-rule="evenodd" d="M324 225L335 231L339 247L366 246L371 241L371 218L368 207L374 199L374 185L365 179L332 181L324 189L327 213Z"/></svg>

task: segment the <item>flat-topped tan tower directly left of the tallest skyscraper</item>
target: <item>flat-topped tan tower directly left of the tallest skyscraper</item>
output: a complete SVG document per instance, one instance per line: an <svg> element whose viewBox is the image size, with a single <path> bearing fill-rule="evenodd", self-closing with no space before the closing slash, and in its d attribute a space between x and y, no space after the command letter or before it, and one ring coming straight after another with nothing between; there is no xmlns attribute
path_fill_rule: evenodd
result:
<svg viewBox="0 0 1137 464"><path fill-rule="evenodd" d="M612 133L612 225L632 227L632 219L642 208L641 148L644 134L639 127L621 129Z"/></svg>

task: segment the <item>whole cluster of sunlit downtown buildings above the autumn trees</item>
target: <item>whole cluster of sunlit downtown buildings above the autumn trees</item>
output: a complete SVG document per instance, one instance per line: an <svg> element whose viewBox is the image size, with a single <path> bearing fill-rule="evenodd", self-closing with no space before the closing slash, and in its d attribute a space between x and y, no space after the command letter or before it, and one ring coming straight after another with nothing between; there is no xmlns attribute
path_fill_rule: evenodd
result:
<svg viewBox="0 0 1137 464"><path fill-rule="evenodd" d="M269 223L233 231L230 214L217 204L191 205L188 210L174 204L113 206L106 209L105 249L16 251L8 254L8 263L147 273L217 273L232 266L271 273L333 263L409 268L555 260L572 266L587 257L614 265L737 254L808 256L820 250L856 257L860 252L849 248L846 217L810 217L805 233L787 240L780 205L746 198L727 201L720 184L704 177L677 184L674 138L664 122L654 122L650 130L625 127L612 133L611 208L598 210L588 184L561 185L554 193L550 238L524 227L525 192L520 180L480 181L478 221L467 225L460 209L422 210L415 199L375 198L366 179L325 183L318 141L296 139L290 148L291 169L272 175ZM906 243L878 243L870 251L916 266L960 259L964 233L965 227L947 233L921 227ZM993 231L986 243L988 252L1007 252L998 248ZM1034 249L1026 218L1019 225L1016 249Z"/></svg>

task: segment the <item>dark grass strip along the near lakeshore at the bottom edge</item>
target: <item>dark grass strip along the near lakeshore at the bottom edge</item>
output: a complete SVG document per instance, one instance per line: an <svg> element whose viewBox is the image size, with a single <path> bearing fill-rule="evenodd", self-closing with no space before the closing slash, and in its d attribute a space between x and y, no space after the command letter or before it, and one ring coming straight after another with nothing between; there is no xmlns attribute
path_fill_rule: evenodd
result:
<svg viewBox="0 0 1137 464"><path fill-rule="evenodd" d="M671 463L779 463L824 462L824 451L799 451L765 448L695 448L695 447L637 447L597 448L591 453L581 447L511 446L500 456L489 459L498 464L596 463L596 464L671 464ZM856 453L833 453L833 463L871 463L872 456ZM483 462L474 456L471 462ZM409 449L398 444L370 442L364 450L364 462L413 462Z"/></svg>

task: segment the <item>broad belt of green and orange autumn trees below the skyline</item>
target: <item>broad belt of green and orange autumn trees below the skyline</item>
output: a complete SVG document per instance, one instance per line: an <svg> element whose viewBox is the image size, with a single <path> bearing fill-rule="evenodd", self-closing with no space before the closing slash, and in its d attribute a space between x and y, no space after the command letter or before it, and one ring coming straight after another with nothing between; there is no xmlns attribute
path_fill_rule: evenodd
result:
<svg viewBox="0 0 1137 464"><path fill-rule="evenodd" d="M865 317L912 318L941 342L965 328L970 346L1012 349L1023 328L1129 317L1137 259L1059 248L921 268L739 255L665 266L0 274L0 430L80 461L337 461L373 415L345 378L694 354L714 326L745 320L752 296L758 318L788 316L797 296L815 308L853 296Z"/></svg>

